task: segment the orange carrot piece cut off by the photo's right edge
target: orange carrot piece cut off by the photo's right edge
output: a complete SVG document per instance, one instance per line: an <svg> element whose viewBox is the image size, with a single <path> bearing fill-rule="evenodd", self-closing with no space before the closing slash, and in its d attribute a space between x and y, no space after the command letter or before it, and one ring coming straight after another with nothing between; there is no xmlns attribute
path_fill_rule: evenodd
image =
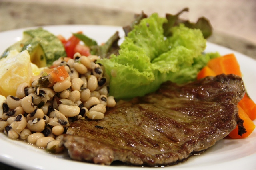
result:
<svg viewBox="0 0 256 170"><path fill-rule="evenodd" d="M251 120L256 119L256 104L252 101L247 93L238 104L242 107L242 109L244 109Z"/></svg>

